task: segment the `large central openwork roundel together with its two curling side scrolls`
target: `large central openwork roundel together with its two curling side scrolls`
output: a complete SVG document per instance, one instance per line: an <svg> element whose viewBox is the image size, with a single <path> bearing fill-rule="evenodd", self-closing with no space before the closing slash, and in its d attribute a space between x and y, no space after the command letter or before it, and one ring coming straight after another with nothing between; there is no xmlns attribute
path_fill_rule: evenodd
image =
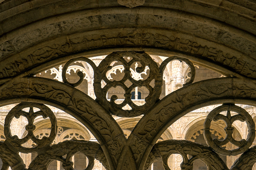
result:
<svg viewBox="0 0 256 170"><path fill-rule="evenodd" d="M125 58L131 58L131 60L125 60ZM148 55L146 52L139 52L139 51L125 51L125 52L112 52L105 59L99 63L97 67L94 62L85 57L79 57L75 59L69 60L65 66L63 67L62 77L63 82L67 83L71 86L78 86L82 83L84 77L83 73L79 71L77 75L80 77L78 82L70 83L66 78L66 72L69 65L76 61L83 61L87 62L91 65L94 71L94 92L97 103L99 103L103 108L109 110L111 114L120 116L120 117L135 117L140 116L142 114L146 114L148 110L154 106L155 103L159 101L159 96L162 92L162 84L163 84L163 71L165 70L166 65L173 61L179 60L180 62L185 62L191 68L191 80L185 83L183 86L187 86L191 84L195 78L195 67L192 62L187 59L180 58L177 56L169 57L168 59L164 60L161 65L158 67L157 63ZM124 76L120 80L110 80L107 77L108 71L112 69L111 64L113 62L119 62L124 67ZM136 67L135 71L141 74L146 66L149 68L149 74L146 79L143 80L136 80L132 78L131 75L131 67L134 63L140 63L140 67ZM131 86L127 86L125 82L131 82ZM102 82L105 85L102 87ZM151 84L154 82L154 85ZM151 84L151 85L150 85ZM122 103L117 104L115 101L118 99L117 95L112 95L110 97L110 101L107 99L107 94L110 88L112 87L121 87L125 91L124 100ZM136 87L145 87L149 91L148 96L145 98L145 103L142 106L138 106L133 103L131 99L131 92ZM131 110L124 110L123 107L127 106L127 104L131 107Z"/></svg>

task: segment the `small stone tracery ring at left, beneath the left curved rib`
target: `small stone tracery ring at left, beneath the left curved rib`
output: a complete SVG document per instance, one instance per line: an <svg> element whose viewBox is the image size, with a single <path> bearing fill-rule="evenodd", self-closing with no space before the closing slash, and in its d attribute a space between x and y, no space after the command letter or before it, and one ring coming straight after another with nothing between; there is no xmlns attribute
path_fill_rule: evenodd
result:
<svg viewBox="0 0 256 170"><path fill-rule="evenodd" d="M29 107L29 112L23 111L24 108L28 108L28 107ZM33 108L39 108L39 111L34 112ZM12 136L11 129L10 129L12 119L14 117L18 119L20 116L25 116L28 120L28 124L25 127L28 133L22 139L19 139L18 136L16 135ZM35 125L33 123L34 123L34 119L37 116L43 116L43 118L49 117L50 122L52 124L49 137L42 137L42 139L38 139L35 137L33 133L33 131L35 130ZM14 108L12 108L8 112L5 118L5 122L4 122L4 135L6 138L5 141L7 141L7 143L10 143L12 146L16 147L22 153L35 152L40 147L49 146L54 141L56 134L57 134L57 119L54 113L52 112L52 110L50 110L49 107L41 103L22 102L16 105ZM23 147L22 145L27 141L29 141L29 139L35 142L37 146L32 148Z"/></svg>

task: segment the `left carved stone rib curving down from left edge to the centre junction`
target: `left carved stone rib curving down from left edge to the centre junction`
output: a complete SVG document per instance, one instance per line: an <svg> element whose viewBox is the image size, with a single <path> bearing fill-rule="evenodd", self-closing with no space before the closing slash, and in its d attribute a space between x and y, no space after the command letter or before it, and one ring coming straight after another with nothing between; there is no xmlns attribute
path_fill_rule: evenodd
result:
<svg viewBox="0 0 256 170"><path fill-rule="evenodd" d="M37 82L39 80L39 82ZM44 81L44 78L38 78L38 77L31 77L30 79L29 79L29 83L32 83L32 82L34 82L34 87L35 88L37 88L38 90L39 89L41 89L42 90L42 87L39 85L40 84L40 80L42 80L42 81ZM22 79L19 79L18 81L22 81ZM21 84L23 84L24 82L26 82L26 80L25 81L23 81ZM36 83L37 82L37 83ZM55 88L53 88L53 89L59 89L59 90L57 90L57 92L58 92L58 94L60 94L60 93L62 93L61 94L61 97L57 97L57 98L54 98L54 97L50 97L50 98L48 98L48 99L46 99L46 98L42 98L42 94L40 94L40 93L32 93L32 94L30 94L30 90L29 90L29 88L27 88L27 90L29 90L29 91L27 91L27 90L25 90L25 91L27 91L27 92L24 92L23 93L23 98L21 97L21 98L19 98L19 99L14 99L14 98L10 98L10 96L9 95L7 95L6 96L6 98L4 98L4 96L2 95L2 98L1 98L1 104L2 105L6 105L6 104L9 104L9 103L17 103L17 102L21 102L21 101L33 101L33 102L44 102L45 104L48 104L48 105L51 105L51 106L54 106L54 107L57 107L57 108L59 108L59 109L61 109L61 110L63 110L63 111L65 111L65 112L67 112L68 114L71 114L72 116L74 116L74 118L76 118L77 120L79 120L81 123L83 123L90 131L91 131L91 133L93 133L93 135L94 135L94 137L98 140L98 142L99 143L105 143L105 141L108 141L108 143L110 143L110 141L109 141L109 139L110 139L110 137L112 136L112 135L119 135L119 134L123 134L123 132L121 131L121 129L120 129L120 127L117 125L117 123L113 120L113 118L109 115L108 116L108 114L106 114L106 113L104 113L103 114L103 112L104 112L104 110L102 110L102 108L101 108L101 106L99 106L97 103L94 103L94 100L93 99L91 99L89 96L87 96L86 94L83 94L82 92L80 92L79 90L76 90L76 89L74 89L74 88L72 88L72 87L69 87L69 86L67 86L67 85L65 85L65 84L62 84L61 82L56 82L56 81L54 81L54 80L49 80L48 79L48 81L47 81L49 84L48 84L48 86L47 86L47 88L51 88L52 86L56 86ZM54 82L54 83L53 83ZM18 84L18 86L19 85L21 85L19 82L16 82L17 84ZM13 85L13 87L15 88L15 86L17 85L16 83L14 83ZM44 81L44 83L45 83L45 81ZM23 84L24 85L24 84ZM22 86L23 86L22 85ZM29 84L27 84L27 85L29 85ZM5 92L7 92L8 90L7 89L5 89L4 90L4 88L5 87L1 87L1 89L3 90L3 91L5 91ZM65 90L61 90L61 88L64 88ZM72 89L72 90L71 90ZM10 90L10 89L9 89ZM70 90L70 91L69 91ZM47 90L46 90L47 91ZM54 96L54 93L52 93L52 90L50 90L50 91L48 91L48 92L46 92L44 95L47 95L47 94L49 94L49 92L50 92L50 96ZM73 96L73 101L72 100L70 100L70 98L68 97L68 96L70 96L71 94L68 94L68 92L71 92L72 93L72 96ZM8 92L7 92L8 93ZM30 94L30 95L28 95L28 94ZM34 98L33 97L33 94L35 95L35 94L38 94L39 96L39 98ZM15 95L15 94L12 94L12 95ZM74 100L75 99L75 95L78 95L78 96L80 96L81 97L81 99L78 99L78 100ZM49 96L48 96L49 97ZM79 98L80 98L79 97ZM67 100L68 99L68 100ZM92 101L92 102L88 102L88 100L90 101ZM87 102L86 102L87 101ZM59 103L58 104L58 102L61 102L61 104ZM71 104L71 103L72 104ZM78 102L78 103L77 103ZM67 104L66 106L64 106L64 104ZM70 105L71 104L71 105ZM77 108L74 108L74 104L76 105L76 104L79 104L79 109L77 109ZM92 104L92 105L91 105ZM73 105L73 106L72 106ZM93 109L94 111L95 110L97 110L97 113L96 114L103 114L102 116L104 117L104 119L102 119L101 118L101 116L95 116L95 118L97 118L97 119L94 119L94 116L93 116L93 114L95 114L94 112L93 112L93 110L91 110L91 107L92 108L94 108L95 107L95 109ZM88 118L88 112L86 111L86 110L84 110L85 108L87 108L87 109L89 109L89 112L90 112L90 114L92 114L91 115L91 120L89 120ZM87 115L86 117L85 117L85 115ZM95 127L95 126L91 126L91 124L93 124L93 122L91 122L91 123L89 123L90 121L92 121L92 120L94 120L94 121L97 121L97 122L102 122L103 124L103 126L108 126L108 124L110 123L111 124L111 126L110 127L108 127L108 128L106 128L106 129L108 129L107 131L105 131L105 129L102 129L102 127L99 127L99 131L100 130L103 130L104 131L104 133L103 134L108 134L109 133L109 135L104 135L104 136L102 136L99 132L98 132L98 130L97 130L97 126ZM108 123L107 123L108 122ZM113 129L113 131L111 131L111 133L110 133L110 129L112 129L114 126L116 126L114 129ZM95 129L96 128L96 129ZM110 129L109 129L110 128ZM120 137L120 138L118 138L118 139L116 139L117 141L120 141L121 143L123 143L123 142L125 142L125 139L124 139L124 137ZM109 153L109 151L108 151L108 146L106 146L106 145L102 145L102 149L103 150L105 150L105 154L106 155L108 155L108 154L110 154ZM109 157L110 159L112 159L111 157ZM114 166L114 165L111 165L111 162L113 161L113 160L108 160L108 161L110 161L110 163L109 163L109 166Z"/></svg>

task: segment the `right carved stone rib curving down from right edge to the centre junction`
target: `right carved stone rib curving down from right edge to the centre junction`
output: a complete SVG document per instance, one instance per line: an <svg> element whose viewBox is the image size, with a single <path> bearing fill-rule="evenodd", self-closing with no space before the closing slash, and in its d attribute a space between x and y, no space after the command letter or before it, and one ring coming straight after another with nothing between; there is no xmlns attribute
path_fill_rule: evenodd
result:
<svg viewBox="0 0 256 170"><path fill-rule="evenodd" d="M211 82L212 79L204 80L202 82L193 83L193 84L190 84L189 86L185 86L180 90L177 90L176 92L167 95L165 98L161 100L161 102L158 103L158 104L161 104L161 106L165 106L165 107L160 109L157 107L160 105L157 105L155 108L153 108L153 110L151 110L146 115L144 115L143 118L140 119L139 121L140 123L138 123L138 126L135 127L132 134L128 138L128 142L130 142L130 140L131 141L140 140L143 143L144 142L151 143L153 141L156 142L159 136L164 132L164 130L166 130L173 122L175 122L177 119L187 114L188 112L196 110L197 108L200 108L200 107L209 106L212 104L219 104L223 102L237 102L241 104L246 103L246 104L255 106L254 98L256 96L252 96L251 94L248 96L244 95L243 99L241 99L238 96L237 96L238 98L234 96L236 94L239 94L241 91L244 91L244 88L241 89L241 87L250 86L249 89L254 89L253 87L254 83L251 84L250 81L244 82L244 80L241 81L236 78L235 79L219 78L214 80L215 80L214 84L207 85L207 83ZM231 82L233 86L229 86ZM225 84L225 86L219 89L218 86L220 86L220 84ZM197 86L196 87L197 90L194 92L190 91L191 94L189 94L186 88L190 89L193 86ZM237 86L238 88L234 88L234 86ZM205 91L205 89L208 89L208 90ZM218 92L215 90L217 90ZM230 98L230 96L232 97ZM180 100L181 98L182 98L182 103L179 103L179 104L176 103L176 101ZM171 103L169 102L170 100L172 100ZM189 102L186 102L186 101L189 101ZM180 111L176 110L176 108ZM148 133L148 132L145 133L145 129L141 127L141 126L146 126L146 127L153 126L153 124L155 123L158 124L158 126L155 127L155 129L151 129L151 130L147 129L147 131L150 131L151 133ZM136 135L133 135L133 134L136 134ZM144 135L139 135L139 134L144 134ZM138 137L139 138L141 137L141 138L138 139ZM146 143L144 145L146 145ZM143 154L149 153L151 150L149 148L151 148L151 146L148 146L148 150L146 149Z"/></svg>

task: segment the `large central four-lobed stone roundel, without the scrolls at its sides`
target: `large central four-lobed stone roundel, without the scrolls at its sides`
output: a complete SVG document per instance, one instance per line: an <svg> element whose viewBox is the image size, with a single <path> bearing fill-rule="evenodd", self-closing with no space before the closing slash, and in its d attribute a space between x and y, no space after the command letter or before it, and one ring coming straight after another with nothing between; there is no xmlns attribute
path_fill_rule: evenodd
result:
<svg viewBox="0 0 256 170"><path fill-rule="evenodd" d="M132 60L127 62L123 57L131 57ZM110 64L114 61L121 62L124 66L124 77L123 79L116 81L110 81L106 74L112 68ZM141 67L136 68L136 72L141 73L144 71L146 66L148 66L150 73L147 79L145 80L135 80L131 76L130 68L133 63L140 62ZM113 115L121 116L121 117L135 117L142 114L145 114L147 110L150 109L153 103L155 103L159 96L161 95L161 87L162 87L162 74L161 70L157 66L157 63L145 52L113 52L106 56L105 59L97 67L97 70L94 74L94 92L97 97L97 102L101 104L107 110L110 110ZM102 88L101 82L104 80L106 85ZM129 80L132 85L127 87L125 82ZM151 87L150 82L155 80L155 86ZM124 89L124 101L121 104L116 104L114 101L117 99L116 95L113 95L110 98L110 102L107 100L106 95L108 90L111 87L119 86ZM137 106L131 100L131 92L135 87L146 87L149 91L148 96L145 98L145 104L142 106ZM128 104L132 109L131 110L123 110L124 107Z"/></svg>

